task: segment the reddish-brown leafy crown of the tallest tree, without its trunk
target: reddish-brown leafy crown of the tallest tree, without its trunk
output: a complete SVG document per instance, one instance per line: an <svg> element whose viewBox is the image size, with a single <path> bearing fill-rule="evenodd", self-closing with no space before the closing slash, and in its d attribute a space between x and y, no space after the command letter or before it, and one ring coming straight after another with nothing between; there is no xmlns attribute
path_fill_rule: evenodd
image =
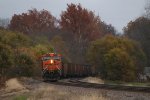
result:
<svg viewBox="0 0 150 100"><path fill-rule="evenodd" d="M78 42L94 40L105 34L102 33L104 31L100 27L111 27L111 25L107 26L102 22L99 16L83 8L80 4L68 4L67 6L67 11L61 14L60 26L62 29L71 32Z"/></svg>

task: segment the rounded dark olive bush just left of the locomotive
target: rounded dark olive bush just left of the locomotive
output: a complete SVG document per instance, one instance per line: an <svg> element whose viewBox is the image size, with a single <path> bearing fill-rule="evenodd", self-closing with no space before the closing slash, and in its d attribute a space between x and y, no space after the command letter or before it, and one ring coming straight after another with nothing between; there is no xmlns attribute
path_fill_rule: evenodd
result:
<svg viewBox="0 0 150 100"><path fill-rule="evenodd" d="M29 48L20 48L15 51L14 74L17 76L33 76L36 66L36 57ZM37 71L37 70L36 70Z"/></svg>

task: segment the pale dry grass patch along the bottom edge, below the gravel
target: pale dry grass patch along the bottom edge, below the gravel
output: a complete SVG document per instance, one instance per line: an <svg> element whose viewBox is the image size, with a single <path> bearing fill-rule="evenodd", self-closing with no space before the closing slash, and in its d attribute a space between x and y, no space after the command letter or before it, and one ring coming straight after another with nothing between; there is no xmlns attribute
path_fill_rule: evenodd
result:
<svg viewBox="0 0 150 100"><path fill-rule="evenodd" d="M78 93L75 90L63 91L54 87L40 87L28 100L108 100L102 95Z"/></svg>

